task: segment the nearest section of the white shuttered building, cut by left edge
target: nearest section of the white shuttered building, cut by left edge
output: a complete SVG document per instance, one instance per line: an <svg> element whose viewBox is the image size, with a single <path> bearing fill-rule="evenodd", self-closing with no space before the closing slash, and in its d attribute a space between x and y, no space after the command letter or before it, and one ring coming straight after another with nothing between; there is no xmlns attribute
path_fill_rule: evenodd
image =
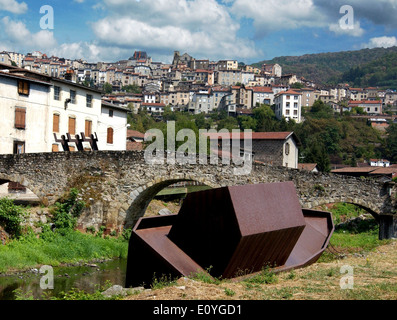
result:
<svg viewBox="0 0 397 320"><path fill-rule="evenodd" d="M0 70L0 154L50 151L50 78L30 79L10 70Z"/></svg>

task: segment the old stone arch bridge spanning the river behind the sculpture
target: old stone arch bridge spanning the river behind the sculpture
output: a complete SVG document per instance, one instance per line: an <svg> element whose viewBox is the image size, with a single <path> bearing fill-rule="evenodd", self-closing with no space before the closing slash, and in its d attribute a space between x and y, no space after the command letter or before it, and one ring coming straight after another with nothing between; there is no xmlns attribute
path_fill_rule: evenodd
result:
<svg viewBox="0 0 397 320"><path fill-rule="evenodd" d="M145 214L153 197L181 181L210 187L293 181L303 208L347 202L365 208L380 223L380 237L397 237L396 186L376 180L312 173L254 164L250 174L235 175L235 165L148 164L143 152L94 151L0 156L0 183L18 182L44 205L54 204L72 187L88 204L81 227L120 231Z"/></svg>

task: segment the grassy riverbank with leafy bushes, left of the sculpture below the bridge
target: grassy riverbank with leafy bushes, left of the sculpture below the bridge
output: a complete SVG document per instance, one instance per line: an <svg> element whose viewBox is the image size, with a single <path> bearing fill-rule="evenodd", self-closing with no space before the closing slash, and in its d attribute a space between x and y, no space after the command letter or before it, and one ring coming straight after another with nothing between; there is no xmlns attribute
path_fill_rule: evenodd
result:
<svg viewBox="0 0 397 320"><path fill-rule="evenodd" d="M12 273L40 265L53 267L97 259L125 258L128 251L128 230L119 237L76 231L78 217L85 203L78 198L79 191L69 193L50 208L47 223L38 223L39 232L24 221L29 217L27 208L17 206L10 199L0 200L0 226L10 235L0 245L0 273Z"/></svg>

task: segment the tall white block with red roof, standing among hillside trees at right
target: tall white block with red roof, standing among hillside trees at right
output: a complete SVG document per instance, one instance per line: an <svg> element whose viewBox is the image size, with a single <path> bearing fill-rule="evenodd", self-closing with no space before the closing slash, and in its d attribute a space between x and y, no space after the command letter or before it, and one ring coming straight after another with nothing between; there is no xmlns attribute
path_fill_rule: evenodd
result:
<svg viewBox="0 0 397 320"><path fill-rule="evenodd" d="M274 97L275 114L277 119L283 117L287 120L293 119L297 123L302 121L302 94L294 90L283 91Z"/></svg>

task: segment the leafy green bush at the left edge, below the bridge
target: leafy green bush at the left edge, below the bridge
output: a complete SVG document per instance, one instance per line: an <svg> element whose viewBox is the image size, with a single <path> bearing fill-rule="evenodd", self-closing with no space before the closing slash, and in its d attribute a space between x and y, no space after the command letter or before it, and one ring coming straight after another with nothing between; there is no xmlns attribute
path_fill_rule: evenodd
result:
<svg viewBox="0 0 397 320"><path fill-rule="evenodd" d="M0 225L14 238L19 238L22 234L21 223L27 216L23 207L14 204L8 198L0 199Z"/></svg>

